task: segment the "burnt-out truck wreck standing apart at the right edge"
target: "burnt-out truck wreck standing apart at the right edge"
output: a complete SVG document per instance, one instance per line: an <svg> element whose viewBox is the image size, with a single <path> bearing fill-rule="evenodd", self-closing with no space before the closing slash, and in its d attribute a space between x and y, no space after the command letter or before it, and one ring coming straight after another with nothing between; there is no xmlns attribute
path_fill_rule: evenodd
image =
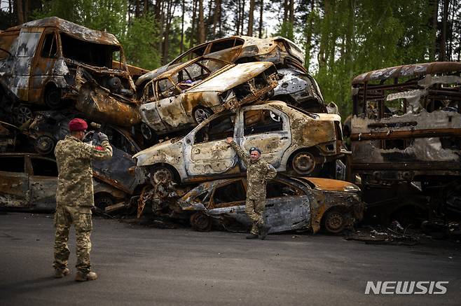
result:
<svg viewBox="0 0 461 306"><path fill-rule="evenodd" d="M382 221L461 212L460 74L430 62L353 79L349 179Z"/></svg>

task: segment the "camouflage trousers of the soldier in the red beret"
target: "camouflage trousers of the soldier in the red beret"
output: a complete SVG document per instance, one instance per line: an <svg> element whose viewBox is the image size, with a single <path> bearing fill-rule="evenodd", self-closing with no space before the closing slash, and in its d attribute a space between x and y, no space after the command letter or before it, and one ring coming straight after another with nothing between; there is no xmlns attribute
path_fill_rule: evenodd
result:
<svg viewBox="0 0 461 306"><path fill-rule="evenodd" d="M90 272L90 235L92 230L91 208L57 205L55 213L55 261L53 267L63 270L69 260L69 230L74 224L78 271Z"/></svg>

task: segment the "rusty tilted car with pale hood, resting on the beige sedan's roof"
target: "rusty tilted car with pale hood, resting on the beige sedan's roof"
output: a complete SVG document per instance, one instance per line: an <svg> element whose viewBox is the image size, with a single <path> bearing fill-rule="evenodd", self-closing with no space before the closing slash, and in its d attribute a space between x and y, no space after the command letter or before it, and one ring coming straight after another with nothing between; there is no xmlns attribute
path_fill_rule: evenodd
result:
<svg viewBox="0 0 461 306"><path fill-rule="evenodd" d="M147 83L139 112L153 133L166 134L266 98L275 86L277 70L270 62L231 64L198 57ZM146 127L143 133L148 139Z"/></svg>

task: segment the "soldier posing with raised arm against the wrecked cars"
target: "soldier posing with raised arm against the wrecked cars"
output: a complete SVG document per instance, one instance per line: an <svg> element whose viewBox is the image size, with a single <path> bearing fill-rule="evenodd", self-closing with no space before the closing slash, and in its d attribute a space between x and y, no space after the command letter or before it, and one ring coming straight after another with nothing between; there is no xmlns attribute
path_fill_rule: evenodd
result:
<svg viewBox="0 0 461 306"><path fill-rule="evenodd" d="M275 177L277 172L274 167L261 159L259 148L250 148L249 155L233 141L232 137L226 139L228 144L237 152L240 159L247 167L247 202L245 213L253 221L252 230L247 239L265 239L268 234L268 226L264 221L264 209L266 208L266 183Z"/></svg>

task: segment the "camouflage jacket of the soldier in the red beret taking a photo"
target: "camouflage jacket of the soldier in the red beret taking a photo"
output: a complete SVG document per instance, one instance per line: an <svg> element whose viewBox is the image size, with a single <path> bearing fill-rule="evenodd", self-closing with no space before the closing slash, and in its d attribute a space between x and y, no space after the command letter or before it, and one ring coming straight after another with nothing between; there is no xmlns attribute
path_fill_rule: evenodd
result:
<svg viewBox="0 0 461 306"><path fill-rule="evenodd" d="M91 160L106 160L112 157L109 141L101 146L92 146L67 135L57 141L55 148L57 162L57 205L92 207L93 198Z"/></svg>

